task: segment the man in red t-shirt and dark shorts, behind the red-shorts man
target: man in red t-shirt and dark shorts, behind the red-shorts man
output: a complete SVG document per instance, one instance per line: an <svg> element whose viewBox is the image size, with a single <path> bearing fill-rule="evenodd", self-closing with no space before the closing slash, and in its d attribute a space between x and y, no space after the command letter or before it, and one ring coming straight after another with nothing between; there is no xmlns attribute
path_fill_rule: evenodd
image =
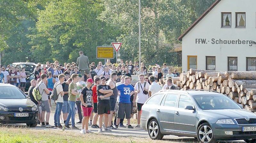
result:
<svg viewBox="0 0 256 143"><path fill-rule="evenodd" d="M93 117L93 123L92 123L92 128L99 128L99 126L97 125L97 120L98 120L98 112L97 112L97 102L98 102L98 95L97 95L97 85L99 85L101 83L100 78L96 77L94 78L94 83L95 85L92 87L92 91L93 91L93 111L95 113L94 117Z"/></svg>

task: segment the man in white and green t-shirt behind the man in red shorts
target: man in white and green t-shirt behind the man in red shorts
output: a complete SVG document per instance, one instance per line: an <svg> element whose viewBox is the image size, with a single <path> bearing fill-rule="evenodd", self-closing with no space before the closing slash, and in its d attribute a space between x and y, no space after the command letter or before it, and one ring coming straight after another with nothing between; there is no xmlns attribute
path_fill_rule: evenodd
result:
<svg viewBox="0 0 256 143"><path fill-rule="evenodd" d="M86 82L82 81L82 75L78 74L78 82L77 84L77 91L79 93L81 93L82 89L86 86ZM79 95L77 95L76 97L76 105L77 105L77 111L78 111L78 117L79 117L79 122L77 122L77 124L81 124L82 123L82 119L83 119L83 115L82 115L82 111L81 111L81 101L80 101L80 97Z"/></svg>

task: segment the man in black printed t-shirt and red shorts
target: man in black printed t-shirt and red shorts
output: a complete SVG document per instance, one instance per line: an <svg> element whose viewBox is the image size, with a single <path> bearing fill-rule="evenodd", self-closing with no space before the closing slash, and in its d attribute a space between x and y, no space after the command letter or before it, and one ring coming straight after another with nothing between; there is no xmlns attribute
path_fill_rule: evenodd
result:
<svg viewBox="0 0 256 143"><path fill-rule="evenodd" d="M81 100L81 108L83 111L83 120L82 120L82 129L80 133L90 133L91 131L88 129L88 121L91 115L91 112L93 111L93 91L91 89L91 86L93 84L93 79L88 78L87 79L87 85L82 89L80 93L80 100Z"/></svg>

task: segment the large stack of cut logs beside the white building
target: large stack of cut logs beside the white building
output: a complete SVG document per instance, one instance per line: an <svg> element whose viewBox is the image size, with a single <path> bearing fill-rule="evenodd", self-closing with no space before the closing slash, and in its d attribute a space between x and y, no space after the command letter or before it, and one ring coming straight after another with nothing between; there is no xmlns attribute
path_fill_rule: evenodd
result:
<svg viewBox="0 0 256 143"><path fill-rule="evenodd" d="M180 90L215 90L256 114L256 71L223 72L191 68L187 73L181 73L179 81L174 83Z"/></svg>

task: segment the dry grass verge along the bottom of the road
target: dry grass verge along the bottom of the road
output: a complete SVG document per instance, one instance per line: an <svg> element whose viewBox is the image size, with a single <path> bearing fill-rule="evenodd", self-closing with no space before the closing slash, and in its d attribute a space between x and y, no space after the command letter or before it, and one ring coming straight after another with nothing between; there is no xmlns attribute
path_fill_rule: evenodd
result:
<svg viewBox="0 0 256 143"><path fill-rule="evenodd" d="M0 143L170 143L170 141L151 140L150 138L141 137L122 137L102 133L80 134L79 130L70 132L58 129L34 130L0 127Z"/></svg>

